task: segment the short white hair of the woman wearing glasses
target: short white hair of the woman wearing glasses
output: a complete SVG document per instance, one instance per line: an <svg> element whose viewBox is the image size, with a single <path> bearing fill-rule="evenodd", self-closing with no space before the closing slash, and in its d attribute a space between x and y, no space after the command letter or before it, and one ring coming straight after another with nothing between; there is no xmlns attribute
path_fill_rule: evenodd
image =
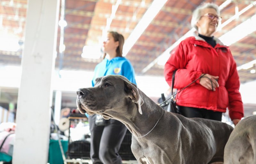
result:
<svg viewBox="0 0 256 164"><path fill-rule="evenodd" d="M192 14L192 19L191 19L191 27L195 27L196 30L198 30L196 23L198 22L198 20L201 18L201 11L206 9L206 8L212 8L214 10L216 10L217 14L220 15L220 9L219 6L217 4L213 4L213 3L204 3L200 6L198 6L196 8L196 10L193 12Z"/></svg>

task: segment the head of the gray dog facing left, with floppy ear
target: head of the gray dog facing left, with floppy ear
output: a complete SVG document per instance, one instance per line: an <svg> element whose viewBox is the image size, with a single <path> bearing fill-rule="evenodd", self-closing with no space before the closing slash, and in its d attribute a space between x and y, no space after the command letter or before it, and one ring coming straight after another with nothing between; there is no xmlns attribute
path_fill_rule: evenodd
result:
<svg viewBox="0 0 256 164"><path fill-rule="evenodd" d="M112 118L108 111L120 112L127 110L131 102L144 103L135 84L122 75L107 75L97 78L94 87L77 90L76 105L80 113L101 114L103 118Z"/></svg>

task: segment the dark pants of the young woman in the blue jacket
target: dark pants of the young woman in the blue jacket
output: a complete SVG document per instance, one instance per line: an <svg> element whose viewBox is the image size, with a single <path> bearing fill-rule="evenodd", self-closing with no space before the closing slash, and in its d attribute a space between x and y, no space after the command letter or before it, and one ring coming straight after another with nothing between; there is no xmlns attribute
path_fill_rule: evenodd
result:
<svg viewBox="0 0 256 164"><path fill-rule="evenodd" d="M117 120L109 119L108 125L96 126L96 114L89 117L91 131L90 157L93 164L122 164L118 154L127 128Z"/></svg>

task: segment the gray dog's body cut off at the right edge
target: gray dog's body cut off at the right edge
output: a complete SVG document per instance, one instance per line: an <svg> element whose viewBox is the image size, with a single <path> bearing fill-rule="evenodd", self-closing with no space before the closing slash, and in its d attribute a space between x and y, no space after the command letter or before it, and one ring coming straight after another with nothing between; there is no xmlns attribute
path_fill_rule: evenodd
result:
<svg viewBox="0 0 256 164"><path fill-rule="evenodd" d="M236 125L225 146L224 164L256 164L256 115Z"/></svg>

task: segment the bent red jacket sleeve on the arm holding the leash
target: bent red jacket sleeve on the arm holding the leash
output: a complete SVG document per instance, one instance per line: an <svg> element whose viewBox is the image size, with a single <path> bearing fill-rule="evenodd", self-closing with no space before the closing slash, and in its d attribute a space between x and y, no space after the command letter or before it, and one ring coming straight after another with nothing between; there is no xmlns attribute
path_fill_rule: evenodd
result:
<svg viewBox="0 0 256 164"><path fill-rule="evenodd" d="M174 88L181 89L186 87L189 83L193 82L200 77L202 72L192 71L186 69L188 63L187 53L188 48L182 41L172 52L170 58L164 66L164 77L169 86L172 86L172 74L175 73ZM199 83L198 79L196 83ZM191 84L191 86L195 83Z"/></svg>

